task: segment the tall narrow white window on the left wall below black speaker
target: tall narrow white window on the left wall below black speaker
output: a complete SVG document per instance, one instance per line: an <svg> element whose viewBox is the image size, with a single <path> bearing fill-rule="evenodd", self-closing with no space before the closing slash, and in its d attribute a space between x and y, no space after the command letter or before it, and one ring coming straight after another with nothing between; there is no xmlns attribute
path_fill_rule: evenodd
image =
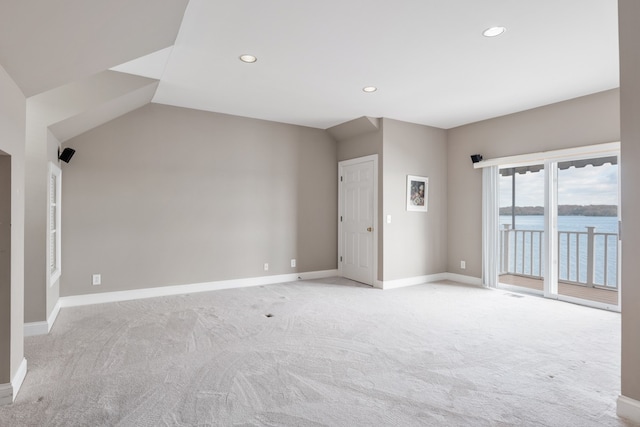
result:
<svg viewBox="0 0 640 427"><path fill-rule="evenodd" d="M49 163L49 285L53 285L62 273L60 260L60 193L62 189L62 171Z"/></svg>

